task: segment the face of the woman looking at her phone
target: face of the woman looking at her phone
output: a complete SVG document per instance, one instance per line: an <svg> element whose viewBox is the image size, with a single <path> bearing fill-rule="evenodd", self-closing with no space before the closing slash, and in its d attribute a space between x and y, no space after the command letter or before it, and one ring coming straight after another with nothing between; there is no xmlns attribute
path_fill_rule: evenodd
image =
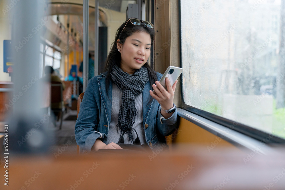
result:
<svg viewBox="0 0 285 190"><path fill-rule="evenodd" d="M129 74L140 69L150 55L150 45L150 35L146 32L134 32L126 38L123 45L117 43L117 48L121 53L121 69Z"/></svg>

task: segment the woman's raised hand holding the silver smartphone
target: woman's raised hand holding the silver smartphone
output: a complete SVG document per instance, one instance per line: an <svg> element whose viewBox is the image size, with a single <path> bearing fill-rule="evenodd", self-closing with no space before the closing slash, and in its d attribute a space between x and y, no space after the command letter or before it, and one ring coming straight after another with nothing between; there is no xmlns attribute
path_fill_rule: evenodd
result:
<svg viewBox="0 0 285 190"><path fill-rule="evenodd" d="M156 85L153 84L152 87L157 95L155 95L151 90L149 91L150 95L158 101L161 105L161 108L164 110L169 110L173 107L173 98L174 92L177 84L177 80L171 86L170 81L168 78L165 79L166 89L160 84L159 81L155 81Z"/></svg>

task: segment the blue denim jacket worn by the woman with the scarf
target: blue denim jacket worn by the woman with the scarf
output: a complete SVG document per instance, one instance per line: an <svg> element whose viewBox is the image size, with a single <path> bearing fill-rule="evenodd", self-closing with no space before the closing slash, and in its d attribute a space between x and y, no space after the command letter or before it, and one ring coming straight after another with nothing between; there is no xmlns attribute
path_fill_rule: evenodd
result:
<svg viewBox="0 0 285 190"><path fill-rule="evenodd" d="M107 72L101 73L89 80L75 124L76 142L87 152L91 150L97 138L107 144L111 122L112 82L109 82L108 98L105 87L106 75ZM157 77L159 80L162 74L157 73ZM146 142L153 149L159 142L165 143L164 136L170 135L177 127L177 110L170 118L164 119L156 99L147 104L151 85L148 81L143 90L143 126Z"/></svg>

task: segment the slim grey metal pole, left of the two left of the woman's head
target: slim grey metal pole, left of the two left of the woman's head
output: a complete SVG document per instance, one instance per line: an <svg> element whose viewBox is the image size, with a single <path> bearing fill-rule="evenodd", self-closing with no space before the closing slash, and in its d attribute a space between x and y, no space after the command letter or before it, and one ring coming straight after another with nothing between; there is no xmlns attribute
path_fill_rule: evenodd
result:
<svg viewBox="0 0 285 190"><path fill-rule="evenodd" d="M89 0L83 1L83 92L88 83L88 23Z"/></svg>

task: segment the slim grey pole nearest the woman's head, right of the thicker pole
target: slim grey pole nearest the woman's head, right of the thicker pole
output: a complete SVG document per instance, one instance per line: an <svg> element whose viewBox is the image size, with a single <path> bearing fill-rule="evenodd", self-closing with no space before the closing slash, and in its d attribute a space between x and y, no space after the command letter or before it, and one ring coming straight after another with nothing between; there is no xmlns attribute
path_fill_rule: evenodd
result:
<svg viewBox="0 0 285 190"><path fill-rule="evenodd" d="M94 76L98 75L99 68L99 1L95 0L95 50L94 50Z"/></svg>

